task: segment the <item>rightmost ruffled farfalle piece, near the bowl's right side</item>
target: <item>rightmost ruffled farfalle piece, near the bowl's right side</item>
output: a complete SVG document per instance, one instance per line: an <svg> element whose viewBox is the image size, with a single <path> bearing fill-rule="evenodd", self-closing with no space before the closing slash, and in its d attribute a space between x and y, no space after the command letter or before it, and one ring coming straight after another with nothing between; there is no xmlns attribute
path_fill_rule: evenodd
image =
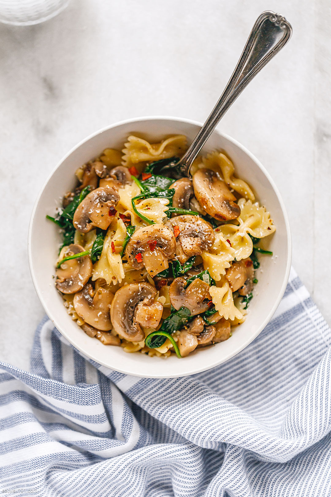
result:
<svg viewBox="0 0 331 497"><path fill-rule="evenodd" d="M238 220L245 224L247 232L252 237L264 238L276 230L270 219L270 213L265 210L265 207L260 206L259 202L253 204L251 200L240 198L238 205L241 210Z"/></svg>

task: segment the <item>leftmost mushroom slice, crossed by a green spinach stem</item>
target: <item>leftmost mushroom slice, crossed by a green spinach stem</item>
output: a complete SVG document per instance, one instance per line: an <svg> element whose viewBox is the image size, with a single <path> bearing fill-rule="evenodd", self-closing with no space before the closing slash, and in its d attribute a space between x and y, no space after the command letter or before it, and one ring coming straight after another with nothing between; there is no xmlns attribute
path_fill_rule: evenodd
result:
<svg viewBox="0 0 331 497"><path fill-rule="evenodd" d="M80 245L71 244L65 256L83 252L84 248ZM92 274L92 262L88 255L78 257L77 259L66 260L61 267L56 270L57 280L56 287L62 293L79 292L87 283Z"/></svg>

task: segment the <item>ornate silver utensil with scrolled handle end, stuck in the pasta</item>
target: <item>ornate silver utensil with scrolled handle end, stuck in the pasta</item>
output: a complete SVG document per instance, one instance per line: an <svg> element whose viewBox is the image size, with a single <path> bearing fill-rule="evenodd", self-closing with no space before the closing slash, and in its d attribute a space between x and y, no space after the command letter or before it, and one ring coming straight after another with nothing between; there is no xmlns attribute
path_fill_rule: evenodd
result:
<svg viewBox="0 0 331 497"><path fill-rule="evenodd" d="M254 76L286 45L291 34L291 24L280 14L265 11L258 17L222 95L192 145L176 166L181 175L190 175L193 161L219 120Z"/></svg>

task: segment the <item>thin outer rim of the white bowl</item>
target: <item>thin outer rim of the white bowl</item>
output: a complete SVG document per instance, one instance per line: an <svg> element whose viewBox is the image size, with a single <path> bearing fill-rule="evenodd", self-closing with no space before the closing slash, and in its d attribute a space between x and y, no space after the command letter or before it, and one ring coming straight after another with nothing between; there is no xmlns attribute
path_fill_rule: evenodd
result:
<svg viewBox="0 0 331 497"><path fill-rule="evenodd" d="M156 116L151 115L151 116L142 116L142 117L138 116L138 117L133 117L133 118L130 118L130 119L124 119L122 121L117 121L117 122L115 122L115 123L113 123L111 125L105 126L105 127L101 128L101 129L95 131L94 133L91 133L90 135L88 135L86 138L84 138L83 140L81 140L80 142L78 142L77 145L75 145L74 147L72 147L66 153L66 155L57 163L57 165L53 168L53 170L51 171L51 173L48 175L46 181L44 182L43 186L41 187L41 189L40 189L40 191L39 191L39 193L37 195L37 198L36 198L36 200L34 202L33 209L32 209L32 212L31 212L31 218L30 218L29 230L28 230L28 242L27 242L27 245L28 245L29 269L30 269L30 274L31 274L31 279L32 279L32 282L33 282L33 286L35 288L37 296L38 296L38 298L39 298L39 300L40 300L40 302L41 302L41 304L42 304L42 306L44 308L44 311L46 312L47 316L50 318L50 320L54 323L55 326L56 326L56 324L55 324L56 317L54 317L53 312L46 305L46 303L44 301L44 298L43 298L43 295L42 295L42 292L39 291L39 288L38 288L37 279L36 279L36 276L35 276L34 271L33 271L32 250L31 250L32 230L33 230L33 223L34 223L35 213L36 213L36 210L37 210L37 207L38 207L39 200L40 200L40 198L41 198L41 196L43 194L43 191L46 188L48 182L52 178L52 176L55 173L55 171L62 165L62 163L75 150L77 150L79 147L81 147L84 143L88 142L89 140L91 140L95 136L97 136L97 135L99 135L99 134L101 134L101 133L103 133L105 131L108 131L108 130L113 129L113 128L117 128L118 126L121 126L123 124L130 124L130 123L134 123L134 122L137 122L137 121L150 121L150 120L179 121L179 122L184 122L184 123L188 123L188 124L193 124L193 125L196 125L196 126L199 126L199 127L202 126L202 123L200 123L199 121L195 121L193 119L187 119L187 118L182 118L182 117L174 117L174 116L163 116L163 115L156 115ZM79 350L83 354L83 356L90 358L91 360L95 361L97 364L105 366L105 367L107 367L110 370L117 371L117 372L129 375L129 376L139 377L139 378L154 378L154 379L156 379L156 378L180 378L180 377L184 377L184 376L189 376L189 375L201 373L203 371L207 371L207 370L212 369L212 368L214 368L216 366L219 366L220 364L223 364L224 362L230 360L232 357L236 356L244 348L246 348L253 340L255 340L255 338L261 333L261 331L264 330L265 326L269 323L269 321L271 320L271 318L274 315L275 311L277 310L278 305L279 305L279 303L280 303L280 301L281 301L281 299L282 299L282 297L284 295L284 292L285 292L285 289L286 289L286 286L287 286L287 283L288 283L288 279L289 279L289 275L290 275L290 269L291 269L291 262L292 262L292 236L291 236L290 224L289 224L289 219L288 219L288 215L287 215L287 212L286 212L286 207L285 207L284 201L283 201L283 199L282 199L282 197L280 195L280 192L279 192L276 184L274 183L272 177L270 176L269 172L265 169L265 166L263 166L262 163L254 156L254 154L252 154L246 147L244 147L240 142L238 142L237 140L235 140L231 136L223 133L222 131L218 130L217 128L215 129L215 131L217 133L219 133L222 137L224 137L225 139L227 139L228 141L232 142L238 148L240 148L247 156L249 156L252 159L252 161L254 161L259 166L259 168L262 170L262 172L264 173L264 175L268 179L269 183L271 184L271 186L273 188L273 191L276 194L277 200L279 202L279 205L280 205L280 208L281 208L281 211L282 211L282 215L283 215L283 218L284 218L284 222L285 222L286 239L287 239L288 249L287 249L287 262L286 262L285 275L284 275L283 283L282 283L281 289L280 289L280 291L278 293L277 299L275 299L272 307L270 308L269 313L267 314L267 316L265 317L265 319L261 323L261 325L257 327L256 331L254 331L254 333L252 333L252 335L247 340L245 340L243 343L241 343L234 351L230 352L227 356L225 356L225 358L223 358L221 360L221 362L215 361L211 365L197 367L194 370L188 371L186 373L182 373L180 376L178 376L178 374L171 374L171 373L170 374L162 374L162 375L155 375L155 374L154 375L152 375L152 374L141 375L141 374L138 374L138 373L134 374L132 372L128 373L125 368L118 368L117 367L116 369L112 369L109 366L109 364L105 363L104 361L100 361L100 359L98 359L97 357L93 356L93 354L87 354L86 351L83 350L80 346L78 346L76 343L73 343L72 340L70 339L70 336L69 336L70 333L67 333L66 331L59 330L60 333L68 340L68 342L74 348L76 348L77 350Z"/></svg>

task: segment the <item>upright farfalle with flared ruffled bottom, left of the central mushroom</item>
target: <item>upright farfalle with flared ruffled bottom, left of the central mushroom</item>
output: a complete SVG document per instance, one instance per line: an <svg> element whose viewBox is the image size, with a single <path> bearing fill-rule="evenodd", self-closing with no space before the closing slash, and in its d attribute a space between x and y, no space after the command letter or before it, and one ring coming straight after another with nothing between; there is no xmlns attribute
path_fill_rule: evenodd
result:
<svg viewBox="0 0 331 497"><path fill-rule="evenodd" d="M103 278L107 285L111 283L116 285L121 283L125 277L122 257L119 252L122 249L127 229L122 219L116 219L116 223L115 232L113 223L107 231L100 259L93 265L92 281Z"/></svg>

